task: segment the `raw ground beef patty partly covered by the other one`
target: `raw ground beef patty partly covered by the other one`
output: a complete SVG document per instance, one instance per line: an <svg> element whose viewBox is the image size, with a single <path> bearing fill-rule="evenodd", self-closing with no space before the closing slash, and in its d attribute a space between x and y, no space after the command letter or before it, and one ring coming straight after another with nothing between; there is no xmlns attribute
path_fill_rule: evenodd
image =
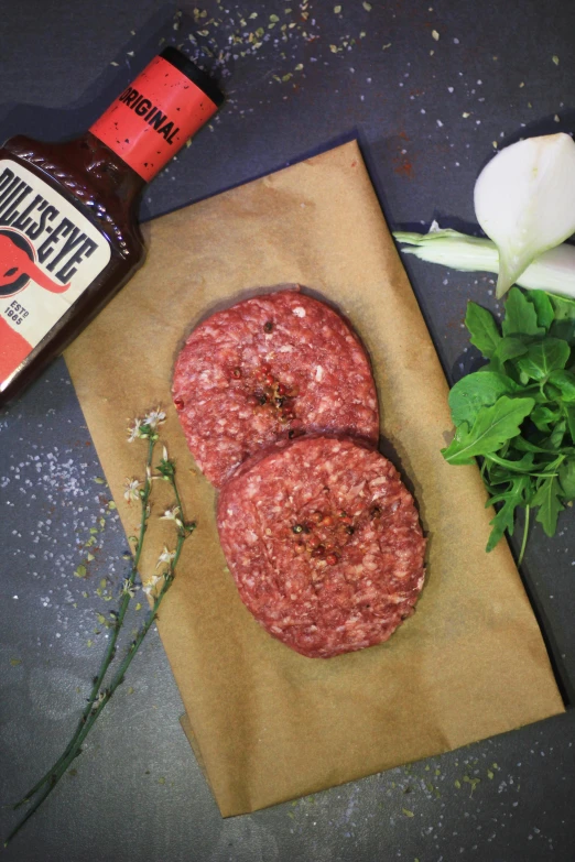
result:
<svg viewBox="0 0 575 862"><path fill-rule="evenodd" d="M378 441L366 351L338 314L297 290L246 299L196 327L172 392L187 445L216 488L278 439L322 432Z"/></svg>

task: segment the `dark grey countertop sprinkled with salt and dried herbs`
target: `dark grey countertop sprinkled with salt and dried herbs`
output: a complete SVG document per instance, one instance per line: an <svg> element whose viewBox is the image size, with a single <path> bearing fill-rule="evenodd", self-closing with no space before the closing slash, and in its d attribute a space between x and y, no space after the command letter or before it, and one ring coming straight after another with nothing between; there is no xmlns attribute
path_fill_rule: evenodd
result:
<svg viewBox="0 0 575 862"><path fill-rule="evenodd" d="M2 6L2 139L79 133L161 39L184 42L194 53L189 34L207 30L197 39L224 51L228 103L213 131L203 130L148 188L142 219L358 137L392 229L423 230L433 218L465 228L475 223L474 183L493 141L575 130L575 6L566 1L371 0L369 8L361 0L209 0L198 3L207 15L197 23L193 3ZM265 39L254 50L248 34L260 26ZM239 41L230 48L234 34ZM453 381L471 364L466 302L496 309L492 284L487 276L405 263ZM106 487L96 482L101 468L62 359L0 414L0 441L3 804L25 792L68 740L104 648L96 613L117 594L127 543ZM522 567L571 701L573 517L572 510L561 515L553 541L535 526ZM73 572L83 560L80 545L95 526L95 560L79 579ZM180 728L182 703L156 632L127 683L75 773L3 853L7 862L575 859L573 710L223 820ZM10 809L1 809L0 836L13 822Z"/></svg>

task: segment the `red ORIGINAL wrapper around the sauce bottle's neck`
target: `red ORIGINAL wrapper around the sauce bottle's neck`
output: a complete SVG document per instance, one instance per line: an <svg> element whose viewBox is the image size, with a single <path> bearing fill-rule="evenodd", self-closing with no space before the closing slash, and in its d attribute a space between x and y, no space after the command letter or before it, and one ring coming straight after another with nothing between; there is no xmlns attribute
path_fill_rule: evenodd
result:
<svg viewBox="0 0 575 862"><path fill-rule="evenodd" d="M189 78L155 57L90 132L150 182L216 110Z"/></svg>

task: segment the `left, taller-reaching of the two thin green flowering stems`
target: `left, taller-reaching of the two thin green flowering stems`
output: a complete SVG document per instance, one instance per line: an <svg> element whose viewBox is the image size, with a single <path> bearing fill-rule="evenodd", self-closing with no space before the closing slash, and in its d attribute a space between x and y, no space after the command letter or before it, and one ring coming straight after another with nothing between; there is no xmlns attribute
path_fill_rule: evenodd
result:
<svg viewBox="0 0 575 862"><path fill-rule="evenodd" d="M154 451L155 441L156 441L156 436L155 435L152 435L148 439L147 468L148 467L151 468L151 466L152 466L152 456L153 456L153 451ZM138 545L135 547L135 554L134 554L133 559L132 559L132 567L130 569L130 575L128 577L129 586L133 586L133 583L135 581L135 577L138 575L138 567L140 565L140 556L141 556L141 553L142 553L143 537L144 537L145 530L147 530L148 502L149 502L149 499L150 499L151 490L152 490L152 481L149 478L149 471L147 469L145 470L145 482L144 482L144 487L143 487L143 491L142 491L142 498L141 498L142 499L142 517L141 517L141 521L140 521L140 534L139 534L139 537L138 537ZM99 690L101 688L102 680L104 680L104 678L105 678L105 676L106 676L106 674L108 672L108 668L109 668L110 664L113 661L113 656L116 654L116 644L117 644L117 641L118 641L118 635L120 633L120 629L122 626L126 613L128 611L128 605L130 603L130 598L131 598L130 592L129 591L124 591L123 594L122 594L121 601L120 601L119 609L118 609L118 615L117 615L117 618L115 620L113 625L111 626L111 636L110 636L108 646L106 648L106 652L104 654L104 658L101 661L100 669L98 670L97 676L94 678L91 691L90 691L90 695L88 697L88 702L87 702L86 707L84 708L84 712L80 716L80 719L78 721L78 724L77 724L77 728L76 728L76 731L75 731L74 735L72 736L72 739L68 742L65 751L58 757L58 760L54 763L54 765L46 772L45 775L42 776L42 778L39 782L36 782L36 784L25 794L25 796L22 797L22 799L20 799L18 803L15 803L14 809L15 808L20 808L20 806L22 806L25 803L28 803L30 800L30 798L32 796L34 796L34 794L36 794L40 790L40 788L46 782L48 782L52 778L52 776L54 775L55 771L58 768L59 764L67 757L69 752L75 746L76 740L80 735L83 728L86 725L86 722L87 722L88 717L89 717L89 714L91 712L93 706L94 706L94 703L96 701L96 698L98 697L98 692L99 692Z"/></svg>

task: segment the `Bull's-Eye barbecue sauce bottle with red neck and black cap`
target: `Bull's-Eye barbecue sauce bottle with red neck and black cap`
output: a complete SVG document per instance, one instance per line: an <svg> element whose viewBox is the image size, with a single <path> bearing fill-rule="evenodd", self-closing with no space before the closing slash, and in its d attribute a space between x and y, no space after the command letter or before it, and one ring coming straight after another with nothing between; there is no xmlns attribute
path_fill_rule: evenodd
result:
<svg viewBox="0 0 575 862"><path fill-rule="evenodd" d="M0 149L0 406L141 266L141 193L223 100L167 47L80 138Z"/></svg>

